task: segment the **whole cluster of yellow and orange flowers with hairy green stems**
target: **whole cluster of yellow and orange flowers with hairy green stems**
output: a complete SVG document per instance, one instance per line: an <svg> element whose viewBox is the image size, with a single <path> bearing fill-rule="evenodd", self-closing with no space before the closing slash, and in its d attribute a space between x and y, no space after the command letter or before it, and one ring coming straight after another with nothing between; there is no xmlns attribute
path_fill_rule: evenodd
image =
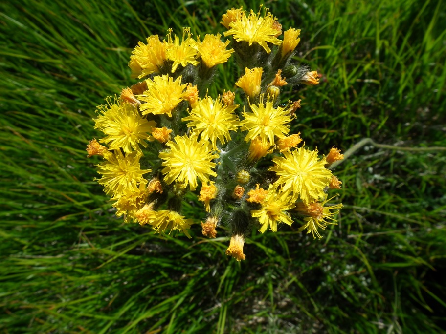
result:
<svg viewBox="0 0 446 334"><path fill-rule="evenodd" d="M104 136L87 151L102 157L98 183L125 222L190 237L197 217L181 212L193 194L206 215L202 234L215 238L225 226L232 233L226 254L240 261L252 227L264 233L300 224L321 238L335 224L342 204L328 204L335 196L327 194L341 188L331 165L343 155L332 148L321 156L290 133L300 100L282 104L282 90L319 80L293 60L300 30L282 34L268 9L230 9L222 24L232 48L220 34L201 40L190 28L181 38L169 30L165 39L139 42L129 67L142 81L97 107L95 128ZM231 57L240 77L209 95L217 65Z"/></svg>

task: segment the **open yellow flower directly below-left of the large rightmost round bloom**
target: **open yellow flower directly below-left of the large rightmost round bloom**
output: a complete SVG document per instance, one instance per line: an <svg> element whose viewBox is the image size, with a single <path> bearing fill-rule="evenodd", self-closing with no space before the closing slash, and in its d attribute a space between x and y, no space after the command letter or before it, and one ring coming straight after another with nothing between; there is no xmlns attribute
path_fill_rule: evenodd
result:
<svg viewBox="0 0 446 334"><path fill-rule="evenodd" d="M286 210L294 208L295 199L289 191L280 191L276 186L270 184L268 195L261 202L260 210L251 210L251 215L258 218L262 227L260 232L264 233L268 226L273 232L277 232L277 223L292 224L290 214Z"/></svg>

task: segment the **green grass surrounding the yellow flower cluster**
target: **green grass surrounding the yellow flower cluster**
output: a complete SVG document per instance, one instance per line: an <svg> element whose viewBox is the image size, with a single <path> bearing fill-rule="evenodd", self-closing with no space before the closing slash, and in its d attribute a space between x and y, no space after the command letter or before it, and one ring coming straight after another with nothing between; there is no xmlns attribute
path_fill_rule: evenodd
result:
<svg viewBox="0 0 446 334"><path fill-rule="evenodd" d="M446 146L444 1L266 4L302 29L297 56L323 75L288 92L302 99L294 130L321 152L366 137L387 145L336 168L345 207L321 241L294 226L253 231L238 263L223 230L161 238L113 215L93 181L99 160L86 159L95 106L133 83L138 40L168 27L223 32L221 15L240 4L0 4L1 333L446 328L446 155L429 149ZM216 85L229 89L237 73L224 69Z"/></svg>

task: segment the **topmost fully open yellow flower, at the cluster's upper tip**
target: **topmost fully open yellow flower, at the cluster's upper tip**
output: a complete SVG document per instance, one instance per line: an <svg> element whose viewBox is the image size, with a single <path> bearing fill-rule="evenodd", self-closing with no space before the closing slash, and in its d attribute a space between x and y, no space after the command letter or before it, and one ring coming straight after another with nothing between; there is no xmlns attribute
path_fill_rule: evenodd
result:
<svg viewBox="0 0 446 334"><path fill-rule="evenodd" d="M279 45L281 41L276 36L280 33L278 34L277 25L274 24L275 18L268 12L268 9L265 9L263 17L260 15L260 12L255 14L253 10L247 17L246 13L243 13L235 21L229 22L231 29L226 31L224 36L233 35L237 42L248 42L249 46L252 43L258 43L267 53L270 53L268 42Z"/></svg>

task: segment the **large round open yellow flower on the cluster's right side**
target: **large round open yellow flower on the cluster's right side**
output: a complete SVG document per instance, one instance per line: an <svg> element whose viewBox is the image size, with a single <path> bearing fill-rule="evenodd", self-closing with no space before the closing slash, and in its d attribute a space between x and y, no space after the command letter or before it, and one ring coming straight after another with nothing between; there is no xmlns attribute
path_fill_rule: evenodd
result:
<svg viewBox="0 0 446 334"><path fill-rule="evenodd" d="M304 147L283 154L284 157L273 158L276 165L268 169L280 176L276 183L283 185L283 190L300 195L305 204L323 197L332 178L332 172L325 168L325 157L319 160L317 150Z"/></svg>

